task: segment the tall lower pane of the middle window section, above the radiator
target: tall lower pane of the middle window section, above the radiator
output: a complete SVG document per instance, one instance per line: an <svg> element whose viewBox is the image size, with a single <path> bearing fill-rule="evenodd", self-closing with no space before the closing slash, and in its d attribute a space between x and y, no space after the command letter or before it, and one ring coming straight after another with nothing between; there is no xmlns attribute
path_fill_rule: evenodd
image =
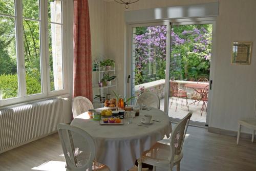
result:
<svg viewBox="0 0 256 171"><path fill-rule="evenodd" d="M27 94L41 93L39 22L23 20Z"/></svg>

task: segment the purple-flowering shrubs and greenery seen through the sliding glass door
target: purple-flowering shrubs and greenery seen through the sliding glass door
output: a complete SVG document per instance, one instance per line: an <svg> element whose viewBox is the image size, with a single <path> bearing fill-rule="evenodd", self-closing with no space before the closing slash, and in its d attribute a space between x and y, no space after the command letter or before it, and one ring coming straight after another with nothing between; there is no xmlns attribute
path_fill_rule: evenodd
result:
<svg viewBox="0 0 256 171"><path fill-rule="evenodd" d="M137 30L138 29L138 30ZM209 75L211 25L173 26L170 77ZM135 84L165 79L166 26L139 27L135 35Z"/></svg>

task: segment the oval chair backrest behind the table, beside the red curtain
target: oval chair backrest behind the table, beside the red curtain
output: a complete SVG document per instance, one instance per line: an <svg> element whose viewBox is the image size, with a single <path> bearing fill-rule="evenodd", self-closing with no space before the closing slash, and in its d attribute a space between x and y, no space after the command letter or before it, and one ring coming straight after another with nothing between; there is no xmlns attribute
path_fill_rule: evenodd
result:
<svg viewBox="0 0 256 171"><path fill-rule="evenodd" d="M74 118L84 112L87 112L89 109L93 109L93 104L88 98L82 96L77 96L73 98L72 112Z"/></svg>

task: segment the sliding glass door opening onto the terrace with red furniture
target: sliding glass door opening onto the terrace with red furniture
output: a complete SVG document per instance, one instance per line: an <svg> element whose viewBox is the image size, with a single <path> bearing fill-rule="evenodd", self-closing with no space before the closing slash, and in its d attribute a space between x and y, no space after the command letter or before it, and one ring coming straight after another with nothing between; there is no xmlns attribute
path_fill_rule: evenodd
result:
<svg viewBox="0 0 256 171"><path fill-rule="evenodd" d="M133 104L152 91L169 117L179 120L191 111L191 121L207 123L214 22L135 24L127 30L127 93L135 96Z"/></svg>

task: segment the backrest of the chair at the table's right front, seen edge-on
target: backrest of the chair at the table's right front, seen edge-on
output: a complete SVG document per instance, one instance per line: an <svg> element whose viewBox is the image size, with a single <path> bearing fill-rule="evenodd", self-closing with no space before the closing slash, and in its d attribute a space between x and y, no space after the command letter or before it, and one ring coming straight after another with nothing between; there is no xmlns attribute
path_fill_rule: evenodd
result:
<svg viewBox="0 0 256 171"><path fill-rule="evenodd" d="M180 122L177 123L170 137L170 155L169 160L174 161L174 156L179 155L182 150L183 142L187 132L188 123L192 112L189 112Z"/></svg>

